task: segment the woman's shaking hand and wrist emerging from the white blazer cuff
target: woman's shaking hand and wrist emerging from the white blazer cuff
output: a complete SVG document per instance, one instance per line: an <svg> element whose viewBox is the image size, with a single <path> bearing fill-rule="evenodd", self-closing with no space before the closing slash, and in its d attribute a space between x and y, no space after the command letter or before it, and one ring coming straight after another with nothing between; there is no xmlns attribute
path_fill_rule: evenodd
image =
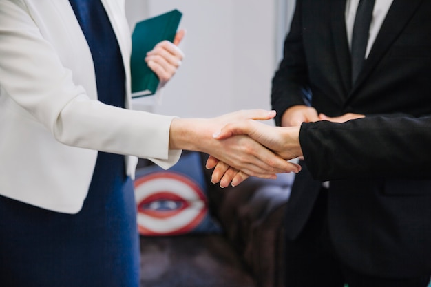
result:
<svg viewBox="0 0 431 287"><path fill-rule="evenodd" d="M208 153L213 162L220 163L220 167L225 164L226 167L231 167L235 171L241 171L238 178L243 175L244 177L276 178L277 173L297 173L301 169L298 164L284 160L246 134L231 134L224 138L213 136L215 132L222 130L229 123L242 123L245 120L269 120L274 116L274 111L256 109L235 111L209 119L174 118L171 121L169 149L187 149ZM215 169L215 172L217 173L218 170ZM213 174L213 178L217 179L217 176ZM233 184L235 182L237 181L234 181ZM238 180L239 182L240 180Z"/></svg>

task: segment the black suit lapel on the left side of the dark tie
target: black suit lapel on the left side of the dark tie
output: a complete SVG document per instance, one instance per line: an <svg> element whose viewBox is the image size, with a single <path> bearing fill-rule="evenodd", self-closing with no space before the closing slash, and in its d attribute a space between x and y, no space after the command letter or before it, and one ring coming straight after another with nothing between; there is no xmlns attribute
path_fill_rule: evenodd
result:
<svg viewBox="0 0 431 287"><path fill-rule="evenodd" d="M331 5L331 28L333 30L335 58L339 67L344 94L347 94L351 87L351 65L346 32L346 0L332 0Z"/></svg>

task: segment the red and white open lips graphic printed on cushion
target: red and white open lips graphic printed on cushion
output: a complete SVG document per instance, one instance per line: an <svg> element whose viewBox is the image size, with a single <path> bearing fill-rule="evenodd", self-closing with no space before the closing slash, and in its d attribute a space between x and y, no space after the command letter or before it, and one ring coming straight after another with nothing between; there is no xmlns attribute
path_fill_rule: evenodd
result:
<svg viewBox="0 0 431 287"><path fill-rule="evenodd" d="M179 235L193 230L208 212L198 184L173 171L150 173L135 181L138 230L142 235Z"/></svg>

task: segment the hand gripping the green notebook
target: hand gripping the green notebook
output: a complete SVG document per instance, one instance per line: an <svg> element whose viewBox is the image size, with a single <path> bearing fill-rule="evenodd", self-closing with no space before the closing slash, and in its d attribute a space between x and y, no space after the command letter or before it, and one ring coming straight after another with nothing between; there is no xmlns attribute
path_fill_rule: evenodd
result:
<svg viewBox="0 0 431 287"><path fill-rule="evenodd" d="M147 53L145 62L156 73L160 80L160 86L164 86L178 70L184 58L184 54L178 48L185 36L185 30L180 30L175 36L174 42L162 41L153 50Z"/></svg>

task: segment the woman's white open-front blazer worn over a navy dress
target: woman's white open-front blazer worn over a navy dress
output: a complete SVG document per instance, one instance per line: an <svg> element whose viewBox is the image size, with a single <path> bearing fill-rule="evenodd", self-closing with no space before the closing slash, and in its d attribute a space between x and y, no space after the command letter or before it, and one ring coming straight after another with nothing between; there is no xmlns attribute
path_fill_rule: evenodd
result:
<svg viewBox="0 0 431 287"><path fill-rule="evenodd" d="M97 100L90 49L67 0L0 0L0 194L63 213L81 210L97 151L164 168L173 117L132 111L124 0L102 0L126 71L126 107ZM145 56L145 55L143 55Z"/></svg>

